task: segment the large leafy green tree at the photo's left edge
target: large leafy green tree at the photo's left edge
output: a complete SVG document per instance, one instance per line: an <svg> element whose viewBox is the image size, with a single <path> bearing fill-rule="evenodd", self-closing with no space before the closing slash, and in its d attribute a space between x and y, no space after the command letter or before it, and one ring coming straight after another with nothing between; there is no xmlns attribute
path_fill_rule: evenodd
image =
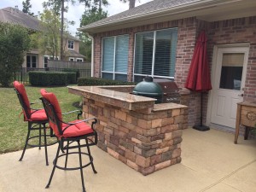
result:
<svg viewBox="0 0 256 192"><path fill-rule="evenodd" d="M0 22L0 83L3 87L9 87L29 49L30 37L25 27Z"/></svg>

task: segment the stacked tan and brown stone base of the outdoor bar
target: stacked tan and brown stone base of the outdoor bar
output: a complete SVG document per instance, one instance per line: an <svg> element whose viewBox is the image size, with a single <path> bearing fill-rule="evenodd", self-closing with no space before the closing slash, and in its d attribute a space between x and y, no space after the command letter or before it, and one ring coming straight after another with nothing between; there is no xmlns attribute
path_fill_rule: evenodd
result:
<svg viewBox="0 0 256 192"><path fill-rule="evenodd" d="M186 108L131 111L84 95L85 118L96 117L98 147L137 172L148 175L181 161Z"/></svg>

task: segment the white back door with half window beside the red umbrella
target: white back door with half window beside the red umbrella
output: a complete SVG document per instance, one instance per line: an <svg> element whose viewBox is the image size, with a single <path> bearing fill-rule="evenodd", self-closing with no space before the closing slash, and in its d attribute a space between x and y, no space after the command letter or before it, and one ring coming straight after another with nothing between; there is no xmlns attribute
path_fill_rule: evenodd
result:
<svg viewBox="0 0 256 192"><path fill-rule="evenodd" d="M212 82L211 122L236 127L237 102L243 101L248 47L218 48Z"/></svg>

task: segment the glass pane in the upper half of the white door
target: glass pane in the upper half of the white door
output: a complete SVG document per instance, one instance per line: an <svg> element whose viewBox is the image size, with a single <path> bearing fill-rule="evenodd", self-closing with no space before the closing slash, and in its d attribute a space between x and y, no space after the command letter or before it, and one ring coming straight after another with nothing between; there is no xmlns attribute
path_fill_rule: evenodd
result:
<svg viewBox="0 0 256 192"><path fill-rule="evenodd" d="M225 53L222 60L219 88L241 90L243 53Z"/></svg>

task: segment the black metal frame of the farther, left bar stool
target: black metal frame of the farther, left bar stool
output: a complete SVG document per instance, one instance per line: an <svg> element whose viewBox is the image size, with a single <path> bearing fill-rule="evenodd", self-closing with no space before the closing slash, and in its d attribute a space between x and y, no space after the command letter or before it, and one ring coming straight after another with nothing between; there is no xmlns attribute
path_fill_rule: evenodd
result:
<svg viewBox="0 0 256 192"><path fill-rule="evenodd" d="M27 108L26 107L26 104L24 103L24 100L22 98L22 96L20 95L19 91L15 89L15 92L18 96L18 99L19 99L19 102L20 102L20 105L21 107L23 108L23 113L25 112L26 113L26 117L30 118L30 115L32 113L35 113L36 111L40 110L40 109L35 109L35 108ZM30 103L31 105L32 104L35 104L34 102L31 102ZM33 110L33 112L31 114L28 113L28 110ZM25 114L24 114L25 115ZM25 119L25 118L24 118ZM45 162L46 162L46 166L49 166L49 161L48 161L48 152L47 152L47 146L50 146L50 145L53 145L55 143L47 143L47 139L46 137L55 137L54 134L53 134L53 131L50 130L50 134L47 135L46 134L46 124L48 123L48 119L46 120L38 120L38 121L27 121L27 135L26 135L26 142L25 142L25 146L23 148L23 151L22 151L22 154L20 156L20 160L21 161L24 157L24 154L26 152L26 148L27 146L31 146L31 147L38 147L39 149L41 149L41 147L44 147L44 151L45 151ZM41 143L41 137L42 137L42 125L43 125L43 130L44 130L44 144ZM37 136L34 136L34 137L30 137L30 133L31 131L39 131L39 134ZM38 137L39 139L39 143L38 144L31 144L29 143L30 140L32 140L33 138L36 138Z"/></svg>

